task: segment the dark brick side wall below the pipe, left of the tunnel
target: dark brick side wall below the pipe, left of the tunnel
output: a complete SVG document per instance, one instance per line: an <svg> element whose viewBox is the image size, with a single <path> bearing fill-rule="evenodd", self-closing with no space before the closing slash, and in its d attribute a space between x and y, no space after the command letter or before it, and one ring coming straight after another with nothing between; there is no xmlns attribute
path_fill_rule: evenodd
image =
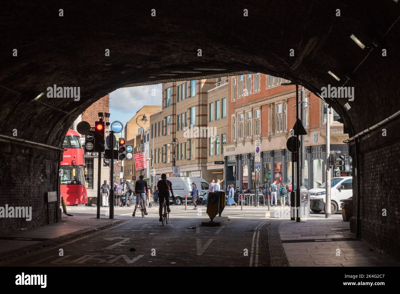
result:
<svg viewBox="0 0 400 294"><path fill-rule="evenodd" d="M59 152L0 141L0 153L0 207L32 207L32 221L1 217L0 233L45 224L46 192L57 191ZM56 221L56 206L49 203L50 223Z"/></svg>

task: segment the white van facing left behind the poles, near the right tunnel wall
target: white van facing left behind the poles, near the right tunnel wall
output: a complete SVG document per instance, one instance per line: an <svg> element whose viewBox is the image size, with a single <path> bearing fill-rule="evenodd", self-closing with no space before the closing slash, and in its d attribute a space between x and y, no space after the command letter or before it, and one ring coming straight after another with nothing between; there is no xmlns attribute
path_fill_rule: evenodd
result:
<svg viewBox="0 0 400 294"><path fill-rule="evenodd" d="M335 177L330 182L330 203L332 215L340 208L340 200L353 196L353 178ZM310 209L314 213L325 210L325 183L317 188L310 189Z"/></svg>

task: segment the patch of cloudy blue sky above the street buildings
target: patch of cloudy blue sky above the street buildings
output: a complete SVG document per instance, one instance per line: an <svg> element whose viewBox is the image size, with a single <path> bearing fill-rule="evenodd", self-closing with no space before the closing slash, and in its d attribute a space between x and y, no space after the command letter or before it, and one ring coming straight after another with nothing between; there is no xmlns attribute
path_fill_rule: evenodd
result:
<svg viewBox="0 0 400 294"><path fill-rule="evenodd" d="M120 88L111 92L110 98L110 122L121 121L125 127L144 105L161 105L162 84Z"/></svg>

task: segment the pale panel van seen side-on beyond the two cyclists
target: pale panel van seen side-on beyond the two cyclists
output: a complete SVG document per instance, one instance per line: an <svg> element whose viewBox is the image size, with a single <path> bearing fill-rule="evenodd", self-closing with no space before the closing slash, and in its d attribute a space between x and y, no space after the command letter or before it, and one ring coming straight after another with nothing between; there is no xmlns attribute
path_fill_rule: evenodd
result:
<svg viewBox="0 0 400 294"><path fill-rule="evenodd" d="M172 190L174 191L174 204L181 205L185 201L185 195L188 197L188 204L192 203L192 183L196 183L197 195L208 192L208 183L200 177L170 177L167 178L172 183ZM170 202L172 201L172 194L170 192Z"/></svg>

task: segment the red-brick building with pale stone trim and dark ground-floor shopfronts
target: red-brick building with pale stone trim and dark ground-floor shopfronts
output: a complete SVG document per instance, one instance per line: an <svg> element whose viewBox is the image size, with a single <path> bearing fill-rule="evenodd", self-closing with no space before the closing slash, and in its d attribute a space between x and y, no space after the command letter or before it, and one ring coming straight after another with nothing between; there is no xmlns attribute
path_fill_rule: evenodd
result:
<svg viewBox="0 0 400 294"><path fill-rule="evenodd" d="M229 77L229 139L224 145L226 184L234 183L235 187L254 191L255 172L251 159L256 139L261 141L260 183L293 180L291 153L286 149L286 141L296 121L296 87L282 86L284 82L288 81L260 73ZM323 114L324 101L304 91L307 131L304 181L311 189L325 181L326 115ZM337 121L340 117L334 112L329 119L330 149L347 154L348 147L343 140L348 135Z"/></svg>

